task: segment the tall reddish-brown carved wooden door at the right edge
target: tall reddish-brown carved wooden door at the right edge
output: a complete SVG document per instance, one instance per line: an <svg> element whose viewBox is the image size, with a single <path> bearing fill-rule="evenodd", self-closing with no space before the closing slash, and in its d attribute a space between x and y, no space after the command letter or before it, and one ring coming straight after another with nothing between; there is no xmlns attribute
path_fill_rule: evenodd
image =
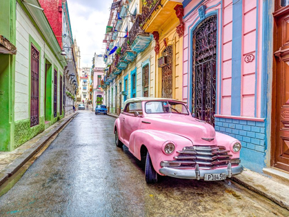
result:
<svg viewBox="0 0 289 217"><path fill-rule="evenodd" d="M277 6L272 102L272 165L289 172L289 6Z"/></svg>

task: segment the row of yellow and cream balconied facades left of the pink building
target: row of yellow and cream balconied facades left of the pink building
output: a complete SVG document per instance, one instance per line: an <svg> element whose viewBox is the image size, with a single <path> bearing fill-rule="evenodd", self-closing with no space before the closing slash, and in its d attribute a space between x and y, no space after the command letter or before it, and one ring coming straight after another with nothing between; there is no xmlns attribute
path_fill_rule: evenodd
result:
<svg viewBox="0 0 289 217"><path fill-rule="evenodd" d="M181 99L183 28L177 1L123 1L110 12L102 82L110 113L119 114L126 99L138 96Z"/></svg>

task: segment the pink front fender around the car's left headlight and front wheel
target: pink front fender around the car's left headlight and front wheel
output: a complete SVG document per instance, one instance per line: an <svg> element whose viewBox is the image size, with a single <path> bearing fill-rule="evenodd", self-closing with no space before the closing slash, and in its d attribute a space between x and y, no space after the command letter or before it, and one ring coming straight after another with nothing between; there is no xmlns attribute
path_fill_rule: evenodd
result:
<svg viewBox="0 0 289 217"><path fill-rule="evenodd" d="M163 152L163 145L167 142L175 144L175 151L172 154L165 154ZM141 161L141 147L146 146L152 165L155 171L159 173L161 169L161 161L172 161L177 151L181 151L183 147L192 146L192 142L178 134L170 132L163 132L159 130L136 130L130 135L129 150L132 154Z"/></svg>

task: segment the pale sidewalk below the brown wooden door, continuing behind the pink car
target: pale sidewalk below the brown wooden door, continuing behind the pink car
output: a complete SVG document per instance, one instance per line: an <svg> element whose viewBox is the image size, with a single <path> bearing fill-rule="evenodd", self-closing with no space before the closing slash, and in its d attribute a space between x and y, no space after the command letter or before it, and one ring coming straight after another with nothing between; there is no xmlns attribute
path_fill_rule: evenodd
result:
<svg viewBox="0 0 289 217"><path fill-rule="evenodd" d="M111 113L108 115L119 117ZM233 176L231 180L289 210L289 174L271 168L263 170L267 176L245 169L242 174Z"/></svg>

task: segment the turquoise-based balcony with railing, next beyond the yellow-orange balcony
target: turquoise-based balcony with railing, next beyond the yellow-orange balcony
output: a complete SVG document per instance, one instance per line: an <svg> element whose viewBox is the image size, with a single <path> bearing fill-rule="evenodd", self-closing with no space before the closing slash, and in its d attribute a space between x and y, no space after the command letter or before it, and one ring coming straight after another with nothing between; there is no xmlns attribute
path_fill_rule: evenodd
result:
<svg viewBox="0 0 289 217"><path fill-rule="evenodd" d="M150 41L152 41L152 35L150 35L150 33L144 32L141 28L142 25L142 17L139 16L132 25L129 34L130 48L132 51L137 52L137 54L139 52L143 52L143 50L146 50L150 44Z"/></svg>

